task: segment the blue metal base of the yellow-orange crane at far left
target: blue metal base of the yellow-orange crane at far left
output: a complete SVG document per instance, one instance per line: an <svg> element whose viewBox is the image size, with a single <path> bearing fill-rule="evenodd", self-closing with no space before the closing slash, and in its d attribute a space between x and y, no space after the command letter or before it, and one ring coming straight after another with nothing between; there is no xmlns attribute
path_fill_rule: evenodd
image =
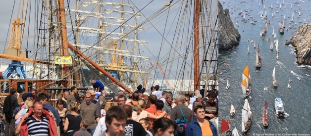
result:
<svg viewBox="0 0 311 136"><path fill-rule="evenodd" d="M8 79L11 74L17 74L20 79L26 79L27 75L25 73L24 66L20 61L13 60L11 64L8 65L7 69L3 72L4 79Z"/></svg>

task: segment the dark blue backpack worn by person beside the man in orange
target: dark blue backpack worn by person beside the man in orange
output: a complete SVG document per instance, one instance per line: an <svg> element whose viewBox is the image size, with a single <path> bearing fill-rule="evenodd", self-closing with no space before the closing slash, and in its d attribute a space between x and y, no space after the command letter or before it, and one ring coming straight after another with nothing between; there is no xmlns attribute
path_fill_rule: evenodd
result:
<svg viewBox="0 0 311 136"><path fill-rule="evenodd" d="M180 106L178 106L181 114L183 115L183 119L176 119L175 124L177 125L176 131L174 132L174 136L184 136L186 135L186 130L188 127L188 120L186 119L183 110Z"/></svg>

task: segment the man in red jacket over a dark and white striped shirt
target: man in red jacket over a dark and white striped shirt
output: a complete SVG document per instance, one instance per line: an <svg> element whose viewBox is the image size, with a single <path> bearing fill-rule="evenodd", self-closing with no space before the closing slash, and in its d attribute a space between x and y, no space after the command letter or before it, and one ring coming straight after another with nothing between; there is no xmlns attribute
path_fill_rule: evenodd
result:
<svg viewBox="0 0 311 136"><path fill-rule="evenodd" d="M51 113L51 112L50 112ZM49 111L43 110L41 102L35 102L29 108L16 126L15 133L20 136L57 136L55 117Z"/></svg>

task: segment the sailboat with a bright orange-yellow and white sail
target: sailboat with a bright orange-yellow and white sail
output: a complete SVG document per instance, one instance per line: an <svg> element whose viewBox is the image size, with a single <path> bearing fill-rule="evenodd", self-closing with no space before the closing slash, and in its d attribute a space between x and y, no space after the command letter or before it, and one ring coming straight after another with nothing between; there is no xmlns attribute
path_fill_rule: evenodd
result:
<svg viewBox="0 0 311 136"><path fill-rule="evenodd" d="M248 65L246 65L246 67L242 73L241 88L242 88L244 97L250 95L252 92L251 75L249 73L249 66Z"/></svg>

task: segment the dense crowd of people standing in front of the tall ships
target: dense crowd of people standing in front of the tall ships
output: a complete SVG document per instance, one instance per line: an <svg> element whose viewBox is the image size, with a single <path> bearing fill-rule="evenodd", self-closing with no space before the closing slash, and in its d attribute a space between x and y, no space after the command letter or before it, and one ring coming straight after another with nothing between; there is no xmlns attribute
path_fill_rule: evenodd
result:
<svg viewBox="0 0 311 136"><path fill-rule="evenodd" d="M128 97L118 91L108 102L104 87L91 83L94 90L84 95L76 87L64 92L56 107L45 93L32 90L18 99L11 89L3 107L5 136L218 136L215 89L206 97L198 90L174 100L159 86L146 92L145 84ZM96 91L101 95L96 97Z"/></svg>

